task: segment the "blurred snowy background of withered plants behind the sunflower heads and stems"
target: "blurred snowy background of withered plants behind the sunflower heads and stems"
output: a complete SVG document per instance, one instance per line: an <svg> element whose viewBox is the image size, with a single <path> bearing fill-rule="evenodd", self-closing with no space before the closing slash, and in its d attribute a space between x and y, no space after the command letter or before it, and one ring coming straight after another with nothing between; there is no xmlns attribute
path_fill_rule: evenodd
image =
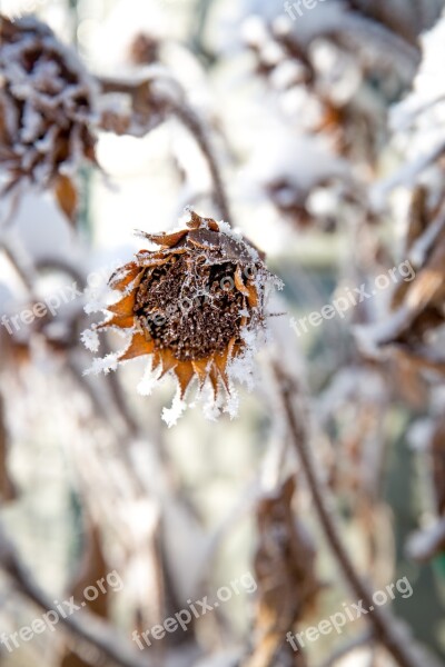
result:
<svg viewBox="0 0 445 667"><path fill-rule="evenodd" d="M89 77L113 81L108 96L98 87L87 119L96 156L76 162L76 207L17 172L8 188L0 148L0 315L10 322L59 299L53 313L0 327L0 631L30 626L48 600L82 600L107 573L123 584L70 617L80 629L59 624L12 651L0 644L2 667L403 664L367 617L304 651L286 643L358 598L320 529L270 360L305 396L320 484L358 573L373 591L408 579L413 595L396 595L392 619L406 646L426 651L417 665L444 664L443 9L0 0L12 26L32 13ZM0 94L14 76L0 56ZM180 91L189 113L154 97L141 119L132 93L147 78ZM238 417L211 422L191 407L168 429L160 416L174 382L140 396L144 359L83 376L91 354L80 335L98 317L87 303L106 298L113 268L144 246L135 229L168 231L186 206L222 217L190 116L234 223L285 287ZM131 127L118 123L129 117ZM291 326L345 290L372 290L405 260L413 281L392 281L307 332ZM65 299L73 282L82 293ZM109 335L106 346L121 340ZM144 651L131 640L249 571L255 594Z"/></svg>

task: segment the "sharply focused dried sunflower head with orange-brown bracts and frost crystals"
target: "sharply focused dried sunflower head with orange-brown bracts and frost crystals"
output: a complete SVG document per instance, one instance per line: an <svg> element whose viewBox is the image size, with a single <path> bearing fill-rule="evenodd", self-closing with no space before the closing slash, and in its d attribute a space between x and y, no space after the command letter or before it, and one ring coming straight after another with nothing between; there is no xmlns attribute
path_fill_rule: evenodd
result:
<svg viewBox="0 0 445 667"><path fill-rule="evenodd" d="M128 331L129 346L97 359L91 370L149 355L156 380L175 375L177 405L185 407L196 379L199 389L210 389L212 405L221 407L222 400L235 411L234 380L249 379L265 331L266 297L277 279L258 250L224 222L191 213L185 229L144 236L157 249L141 250L111 277L121 298L107 308L108 319L86 335L97 349L96 330L117 328Z"/></svg>

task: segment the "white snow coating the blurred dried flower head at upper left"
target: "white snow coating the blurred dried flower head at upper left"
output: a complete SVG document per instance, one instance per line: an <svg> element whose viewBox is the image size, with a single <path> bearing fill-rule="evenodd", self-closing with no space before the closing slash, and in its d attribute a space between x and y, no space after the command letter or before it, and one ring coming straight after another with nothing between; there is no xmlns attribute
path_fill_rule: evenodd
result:
<svg viewBox="0 0 445 667"><path fill-rule="evenodd" d="M58 115L59 125L73 126L70 158L60 171L77 173L85 160L79 125L97 125L98 84L75 51L58 41L44 24L27 18L16 21L16 27L22 29L20 39L3 43L0 49L0 99L2 108L7 109L9 135L14 141L11 146L14 161L21 159L22 167L30 170L33 182L46 188L55 176L53 152L57 151L58 129L56 122L44 122L44 109ZM32 71L28 71L23 66L24 53L36 47L42 56L36 61ZM61 64L57 60L48 61L46 53L56 54L55 58L60 59L71 76L77 78L77 82L66 80ZM88 99L87 108L79 104L79 97ZM21 118L12 110L19 101L24 102Z"/></svg>

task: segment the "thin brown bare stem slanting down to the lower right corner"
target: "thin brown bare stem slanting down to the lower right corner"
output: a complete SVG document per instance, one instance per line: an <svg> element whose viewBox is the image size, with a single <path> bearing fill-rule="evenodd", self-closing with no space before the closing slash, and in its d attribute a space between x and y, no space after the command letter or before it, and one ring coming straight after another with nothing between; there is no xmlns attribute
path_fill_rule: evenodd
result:
<svg viewBox="0 0 445 667"><path fill-rule="evenodd" d="M291 441L310 489L315 509L325 532L326 540L343 571L345 580L354 591L354 595L357 596L358 600L363 601L366 609L373 609L366 615L366 620L373 625L376 638L387 648L400 667L418 667L421 664L424 665L424 667L435 666L437 663L433 658L429 658L429 656L427 658L412 640L408 640L406 633L397 627L397 620L386 610L384 611L382 607L376 607L374 605L373 595L368 589L368 586L356 571L355 566L345 549L337 529L338 521L334 517L332 510L333 502L328 496L327 489L318 478L314 459L309 450L305 410L301 405L297 408L299 401L297 402L295 400L296 398L299 399L299 392L295 380L290 378L278 364L275 365L275 376L278 381ZM297 409L298 417L296 416Z"/></svg>

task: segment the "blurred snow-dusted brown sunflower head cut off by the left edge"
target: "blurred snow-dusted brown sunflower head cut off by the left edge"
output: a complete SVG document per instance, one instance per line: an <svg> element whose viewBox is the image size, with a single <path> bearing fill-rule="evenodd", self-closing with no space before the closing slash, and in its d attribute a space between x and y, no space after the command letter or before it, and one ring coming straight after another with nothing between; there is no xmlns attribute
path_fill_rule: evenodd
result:
<svg viewBox="0 0 445 667"><path fill-rule="evenodd" d="M36 19L0 17L0 168L7 189L28 180L55 190L72 218L73 176L95 161L95 81Z"/></svg>

